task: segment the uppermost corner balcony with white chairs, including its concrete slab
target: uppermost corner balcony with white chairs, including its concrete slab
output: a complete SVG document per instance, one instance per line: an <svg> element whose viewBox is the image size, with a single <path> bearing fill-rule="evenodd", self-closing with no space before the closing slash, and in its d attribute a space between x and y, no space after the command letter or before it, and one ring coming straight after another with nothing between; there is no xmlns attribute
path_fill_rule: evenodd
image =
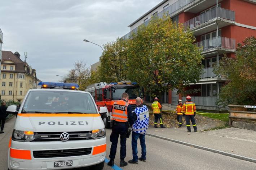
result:
<svg viewBox="0 0 256 170"><path fill-rule="evenodd" d="M194 31L194 35L198 36L216 30L217 23L219 28L235 24L235 12L217 7L186 21L184 28Z"/></svg>

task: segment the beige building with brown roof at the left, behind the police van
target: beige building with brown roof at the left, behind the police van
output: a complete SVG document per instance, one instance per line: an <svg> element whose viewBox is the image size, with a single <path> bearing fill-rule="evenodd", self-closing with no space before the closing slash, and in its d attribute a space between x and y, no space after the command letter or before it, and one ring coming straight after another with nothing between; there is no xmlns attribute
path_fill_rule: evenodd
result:
<svg viewBox="0 0 256 170"><path fill-rule="evenodd" d="M36 70L20 59L18 52L2 51L0 92L1 99L22 102L29 89L40 82Z"/></svg>

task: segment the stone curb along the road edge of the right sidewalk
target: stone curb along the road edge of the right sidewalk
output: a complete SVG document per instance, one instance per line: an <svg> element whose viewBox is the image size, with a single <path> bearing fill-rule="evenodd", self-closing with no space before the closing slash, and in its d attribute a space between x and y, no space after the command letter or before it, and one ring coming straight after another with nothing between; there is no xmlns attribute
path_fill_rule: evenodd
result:
<svg viewBox="0 0 256 170"><path fill-rule="evenodd" d="M241 155L237 155L237 154L229 153L229 152L225 152L225 151L215 150L215 149L212 149L212 148L207 148L207 147L200 146L200 145L197 145L197 144L182 142L182 141L178 141L178 140L175 140L175 139L165 138L165 137L155 135L155 134L146 133L146 135L151 136L151 137L155 137L155 138L159 138L159 139L163 139L165 141L170 141L170 142L174 142L174 143L178 143L178 144L183 144L183 145L186 145L186 146L193 146L194 148L198 148L198 149L201 149L201 150L210 151L210 152L214 152L214 153L219 153L221 155L230 156L230 157L238 158L240 160L256 163L256 159L254 159L254 158L241 156Z"/></svg>

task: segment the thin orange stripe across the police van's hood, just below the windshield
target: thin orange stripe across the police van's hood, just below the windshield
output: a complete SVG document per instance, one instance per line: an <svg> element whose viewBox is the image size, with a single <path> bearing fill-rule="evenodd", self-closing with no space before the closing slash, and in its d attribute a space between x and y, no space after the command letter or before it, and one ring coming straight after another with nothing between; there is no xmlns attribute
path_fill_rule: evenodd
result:
<svg viewBox="0 0 256 170"><path fill-rule="evenodd" d="M19 113L22 117L99 117L100 114L55 114L55 113Z"/></svg>

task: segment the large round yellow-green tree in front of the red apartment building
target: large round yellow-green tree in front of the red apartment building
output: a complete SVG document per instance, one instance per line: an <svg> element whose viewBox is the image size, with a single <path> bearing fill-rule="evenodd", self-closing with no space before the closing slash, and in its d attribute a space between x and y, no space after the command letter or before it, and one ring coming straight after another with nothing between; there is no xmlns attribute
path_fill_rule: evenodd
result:
<svg viewBox="0 0 256 170"><path fill-rule="evenodd" d="M201 75L200 49L193 33L170 18L154 18L128 40L128 78L159 96L168 89L179 91L196 83Z"/></svg>

